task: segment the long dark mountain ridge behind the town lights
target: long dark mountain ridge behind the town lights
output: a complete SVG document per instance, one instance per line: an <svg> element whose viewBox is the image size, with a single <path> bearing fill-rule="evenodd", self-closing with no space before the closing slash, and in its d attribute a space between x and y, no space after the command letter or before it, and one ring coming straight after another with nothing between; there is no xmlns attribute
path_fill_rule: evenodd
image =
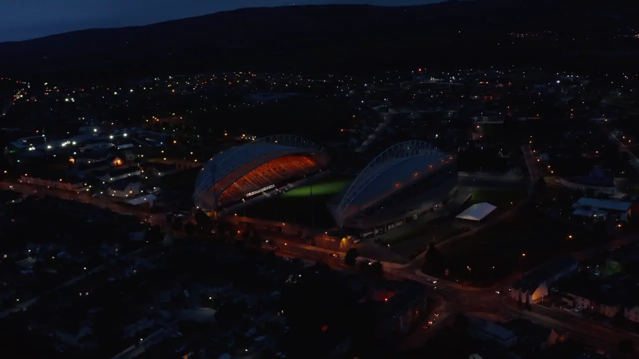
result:
<svg viewBox="0 0 639 359"><path fill-rule="evenodd" d="M502 3L245 8L145 26L86 29L0 43L0 53L12 54L0 57L0 73L91 77L100 71L144 76L245 67L346 70L416 66L422 57L425 65L437 63L435 57L450 65L463 64L464 57L468 66L498 65L526 59L531 51L551 52L569 63L563 58L571 52L611 47L606 39L637 15L624 8L627 0L580 6L573 0L509 1L497 6ZM583 34L601 41L596 47L562 40L562 48L550 39L521 46L509 38L512 31L546 31L562 39ZM626 46L615 43L615 50L618 45ZM475 58L480 52L490 59Z"/></svg>

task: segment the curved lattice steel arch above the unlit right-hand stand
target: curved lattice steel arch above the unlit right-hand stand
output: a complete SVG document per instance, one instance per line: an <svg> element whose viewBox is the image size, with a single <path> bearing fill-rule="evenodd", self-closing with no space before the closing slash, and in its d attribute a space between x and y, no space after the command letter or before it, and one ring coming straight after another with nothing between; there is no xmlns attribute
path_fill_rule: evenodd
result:
<svg viewBox="0 0 639 359"><path fill-rule="evenodd" d="M371 184L376 178L383 174L394 164L398 164L408 158L427 155L441 155L442 151L432 144L424 141L405 141L390 146L375 157L360 174L351 183L348 190L344 193L344 197L335 208L335 219L339 222L339 226L344 224L344 212L346 208L362 193L364 188Z"/></svg>

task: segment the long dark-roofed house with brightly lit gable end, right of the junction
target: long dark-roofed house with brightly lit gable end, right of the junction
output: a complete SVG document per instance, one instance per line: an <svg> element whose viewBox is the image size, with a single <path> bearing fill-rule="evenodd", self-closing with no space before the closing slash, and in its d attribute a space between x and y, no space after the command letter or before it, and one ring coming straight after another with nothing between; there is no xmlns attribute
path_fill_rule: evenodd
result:
<svg viewBox="0 0 639 359"><path fill-rule="evenodd" d="M577 269L571 256L555 259L525 274L512 284L511 298L521 303L532 303L548 295L548 286Z"/></svg>

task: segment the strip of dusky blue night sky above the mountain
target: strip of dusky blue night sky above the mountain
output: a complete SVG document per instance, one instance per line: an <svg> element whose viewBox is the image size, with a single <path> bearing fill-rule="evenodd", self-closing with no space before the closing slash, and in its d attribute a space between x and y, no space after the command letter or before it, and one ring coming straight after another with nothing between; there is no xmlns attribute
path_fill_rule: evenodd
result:
<svg viewBox="0 0 639 359"><path fill-rule="evenodd" d="M93 27L152 24L255 6L416 5L441 0L0 0L0 42Z"/></svg>

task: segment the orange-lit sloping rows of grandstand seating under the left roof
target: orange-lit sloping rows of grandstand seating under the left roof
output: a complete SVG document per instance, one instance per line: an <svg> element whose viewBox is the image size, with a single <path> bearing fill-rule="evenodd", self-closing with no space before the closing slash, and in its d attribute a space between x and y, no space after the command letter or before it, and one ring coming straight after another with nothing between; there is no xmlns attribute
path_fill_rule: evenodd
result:
<svg viewBox="0 0 639 359"><path fill-rule="evenodd" d="M238 179L220 194L219 203L238 201L250 192L268 185L279 185L295 176L304 176L318 171L319 167L315 160L307 156L293 155L276 158Z"/></svg>

